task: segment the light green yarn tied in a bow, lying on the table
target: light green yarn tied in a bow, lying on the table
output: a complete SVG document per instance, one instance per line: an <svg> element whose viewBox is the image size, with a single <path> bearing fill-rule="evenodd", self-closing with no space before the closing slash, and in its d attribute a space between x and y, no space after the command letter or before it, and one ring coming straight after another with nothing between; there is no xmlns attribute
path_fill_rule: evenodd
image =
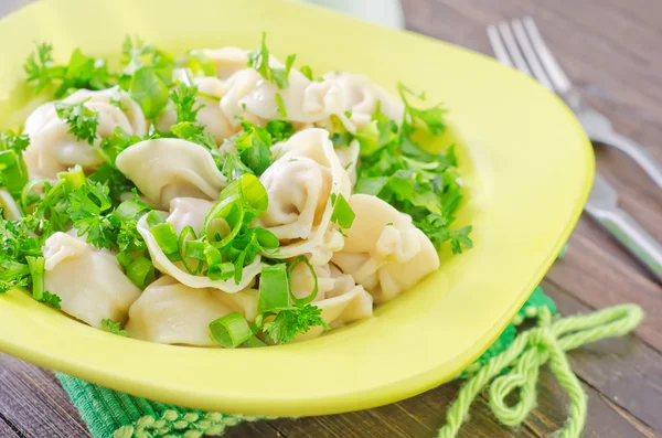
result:
<svg viewBox="0 0 662 438"><path fill-rule="evenodd" d="M558 431L558 437L578 438L586 423L587 396L570 370L565 352L605 338L623 335L633 330L642 318L640 307L623 305L554 321L549 309L541 307L537 325L521 333L503 353L491 357L461 387L458 398L448 408L446 425L439 429L438 438L457 436L473 399L490 382L490 407L494 416L506 426L521 425L535 407L540 367L546 363L570 398L568 420ZM509 406L505 399L515 391L519 391L519 402Z"/></svg>

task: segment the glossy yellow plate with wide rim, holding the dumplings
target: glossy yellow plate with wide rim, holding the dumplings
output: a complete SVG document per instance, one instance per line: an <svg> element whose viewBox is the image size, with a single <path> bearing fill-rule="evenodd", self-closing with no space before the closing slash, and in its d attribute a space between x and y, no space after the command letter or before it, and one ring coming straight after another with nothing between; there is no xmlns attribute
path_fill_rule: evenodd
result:
<svg viewBox="0 0 662 438"><path fill-rule="evenodd" d="M159 46L255 47L349 70L395 90L425 89L450 109L474 248L371 320L310 342L214 350L122 339L12 291L0 297L0 350L130 394L242 414L301 416L369 408L452 378L499 335L573 229L590 188L590 145L563 103L482 55L420 35L276 0L46 0L0 22L0 113L19 94L34 41L66 61L111 55L126 34ZM10 99L11 96L11 99ZM7 99L10 99L9 102ZM459 132L459 136L453 135ZM461 138L460 138L461 137Z"/></svg>

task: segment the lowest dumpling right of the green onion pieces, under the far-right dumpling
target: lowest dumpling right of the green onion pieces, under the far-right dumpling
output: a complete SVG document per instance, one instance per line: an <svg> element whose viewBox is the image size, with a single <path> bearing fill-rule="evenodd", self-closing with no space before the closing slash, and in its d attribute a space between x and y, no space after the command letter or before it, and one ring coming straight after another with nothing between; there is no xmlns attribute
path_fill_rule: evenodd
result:
<svg viewBox="0 0 662 438"><path fill-rule="evenodd" d="M318 293L311 302L322 310L322 319L331 328L369 318L373 314L373 298L363 286L356 285L350 275L342 274L333 265L314 267L318 277ZM299 264L291 275L292 293L297 298L308 296L314 286L310 269ZM313 327L299 334L296 341L316 338L323 332L322 327Z"/></svg>

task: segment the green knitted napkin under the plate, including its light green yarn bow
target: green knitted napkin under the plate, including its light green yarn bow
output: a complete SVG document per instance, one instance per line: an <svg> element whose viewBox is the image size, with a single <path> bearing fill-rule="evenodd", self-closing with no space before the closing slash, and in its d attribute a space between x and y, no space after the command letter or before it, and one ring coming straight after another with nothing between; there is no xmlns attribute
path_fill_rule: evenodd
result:
<svg viewBox="0 0 662 438"><path fill-rule="evenodd" d="M499 339L458 378L467 382L447 412L447 424L438 437L456 437L478 394L490 385L490 407L504 425L522 424L536 404L540 367L549 368L569 394L568 420L560 438L579 437L586 421L587 397L570 371L565 352L600 339L622 335L642 319L633 305L618 306L586 316L555 318L556 307L541 287ZM534 319L536 325L517 333L520 325ZM114 392L75 377L58 374L62 385L78 408L95 438L201 438L221 436L227 427L268 417L204 413ZM506 397L519 392L519 402L509 406Z"/></svg>

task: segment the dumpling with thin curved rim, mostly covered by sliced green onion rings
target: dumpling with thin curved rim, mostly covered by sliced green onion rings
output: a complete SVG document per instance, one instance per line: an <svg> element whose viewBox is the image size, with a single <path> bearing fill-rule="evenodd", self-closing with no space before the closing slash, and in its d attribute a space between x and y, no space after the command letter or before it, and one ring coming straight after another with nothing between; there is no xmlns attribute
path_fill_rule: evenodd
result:
<svg viewBox="0 0 662 438"><path fill-rule="evenodd" d="M186 226L191 226L195 233L200 233L202 225L204 224L204 218L213 205L214 203L205 200L175 197L170 202L170 213L161 212L161 214L167 222L172 224L172 227L178 233ZM260 256L258 255L250 265L244 267L242 280L238 284L235 282L234 278L228 280L212 280L206 276L192 275L185 270L181 261L172 263L168 259L166 254L163 254L163 250L149 229L147 215L138 221L137 227L138 232L147 243L147 248L154 267L161 273L174 277L178 281L191 288L213 288L226 293L236 293L246 289L264 266ZM192 260L190 265L194 266L194 263L195 261Z"/></svg>

